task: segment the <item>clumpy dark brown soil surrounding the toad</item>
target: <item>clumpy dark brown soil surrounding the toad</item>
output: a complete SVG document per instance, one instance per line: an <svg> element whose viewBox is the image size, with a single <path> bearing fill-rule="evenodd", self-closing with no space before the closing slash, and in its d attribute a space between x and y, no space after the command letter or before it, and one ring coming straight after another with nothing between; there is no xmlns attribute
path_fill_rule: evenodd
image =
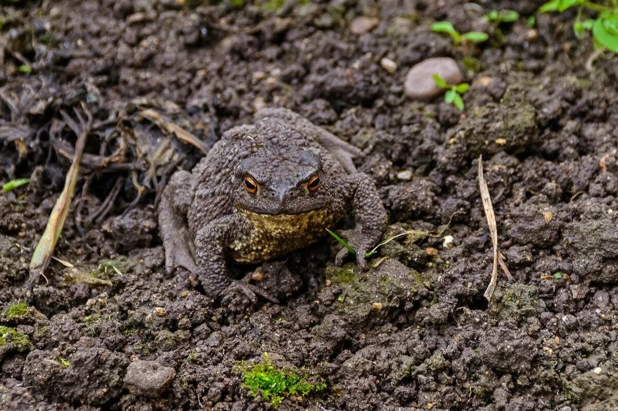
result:
<svg viewBox="0 0 618 411"><path fill-rule="evenodd" d="M586 71L574 13L527 25L540 3L2 2L0 181L32 180L0 194L0 309L30 307L0 325L31 342L0 346L0 409L266 409L234 368L264 352L328 384L285 410L617 409L618 60ZM504 8L522 17L499 31L480 19ZM360 15L378 26L352 34ZM436 20L491 39L453 46ZM462 113L404 96L407 69L436 56L465 67ZM28 296L80 101L93 122L61 261ZM363 149L386 235L450 225L386 244L367 273L332 267L331 239L238 268L263 273L279 305L219 307L187 273L166 275L157 193L202 154L164 123L210 146L261 106ZM515 278L490 302L480 154Z"/></svg>

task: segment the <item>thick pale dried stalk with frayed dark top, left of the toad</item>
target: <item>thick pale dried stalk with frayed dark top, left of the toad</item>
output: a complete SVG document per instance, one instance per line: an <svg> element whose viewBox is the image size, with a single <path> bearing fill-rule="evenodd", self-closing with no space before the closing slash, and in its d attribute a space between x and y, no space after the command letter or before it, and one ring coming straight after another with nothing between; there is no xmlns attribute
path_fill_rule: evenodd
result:
<svg viewBox="0 0 618 411"><path fill-rule="evenodd" d="M83 120L82 116L78 114L77 110L75 110L75 115L77 115L80 120L80 125L77 125L77 123L75 123L66 113L62 112L62 117L65 118L65 122L77 135L75 154L73 157L73 162L69 168L69 172L67 172L62 193L58 197L53 210L51 210L51 215L49 215L49 221L45 227L45 231L43 232L38 244L36 244L35 252L32 254L32 260L30 260L30 276L26 283L27 288L32 286L33 282L43 274L43 271L49 264L49 259L51 259L51 255L53 254L54 248L56 247L60 234L62 233L64 222L69 214L71 199L73 197L75 185L77 184L77 178L79 176L79 164L82 160L86 137L88 136L88 133L90 133L90 128L92 125L92 116L83 102L82 109L88 117L88 120Z"/></svg>

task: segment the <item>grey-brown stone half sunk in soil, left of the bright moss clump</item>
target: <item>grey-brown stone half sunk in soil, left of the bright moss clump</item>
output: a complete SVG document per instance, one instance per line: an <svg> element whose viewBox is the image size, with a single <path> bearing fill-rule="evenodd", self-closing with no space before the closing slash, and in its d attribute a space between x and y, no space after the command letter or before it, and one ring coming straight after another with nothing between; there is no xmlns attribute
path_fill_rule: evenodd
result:
<svg viewBox="0 0 618 411"><path fill-rule="evenodd" d="M135 360L127 367L124 385L131 394L158 397L167 389L174 376L174 368L164 367L154 361Z"/></svg>

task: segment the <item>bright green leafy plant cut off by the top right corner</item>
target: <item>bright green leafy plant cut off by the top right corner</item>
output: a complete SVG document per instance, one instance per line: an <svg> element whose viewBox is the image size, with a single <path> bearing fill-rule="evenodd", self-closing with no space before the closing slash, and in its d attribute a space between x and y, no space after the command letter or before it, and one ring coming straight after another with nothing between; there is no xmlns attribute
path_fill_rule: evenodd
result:
<svg viewBox="0 0 618 411"><path fill-rule="evenodd" d="M592 31L595 48L606 48L618 52L618 6L614 1L598 4L588 0L551 0L543 4L539 11L563 12L571 7L577 7L577 17L573 23L573 31L577 38L582 38L585 31ZM596 14L596 18L582 19L584 12Z"/></svg>

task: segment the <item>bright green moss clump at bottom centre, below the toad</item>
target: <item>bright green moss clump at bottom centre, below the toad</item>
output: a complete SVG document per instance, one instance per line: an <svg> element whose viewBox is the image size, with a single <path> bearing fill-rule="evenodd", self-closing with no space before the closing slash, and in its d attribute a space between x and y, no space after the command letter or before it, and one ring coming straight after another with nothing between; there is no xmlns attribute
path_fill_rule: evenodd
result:
<svg viewBox="0 0 618 411"><path fill-rule="evenodd" d="M311 383L307 373L297 373L294 370L275 368L268 360L268 354L264 353L264 362L249 365L242 362L237 369L243 373L243 388L256 397L258 395L265 401L270 402L273 408L277 408L284 397L308 396L317 394L326 389L326 383L320 380Z"/></svg>

